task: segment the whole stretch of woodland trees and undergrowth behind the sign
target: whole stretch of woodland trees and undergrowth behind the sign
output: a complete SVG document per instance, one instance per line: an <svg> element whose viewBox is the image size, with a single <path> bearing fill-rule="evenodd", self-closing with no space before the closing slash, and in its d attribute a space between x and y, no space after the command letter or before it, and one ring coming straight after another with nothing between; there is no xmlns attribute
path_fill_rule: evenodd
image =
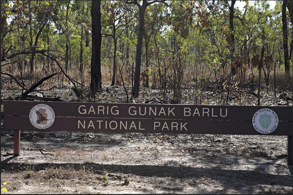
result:
<svg viewBox="0 0 293 195"><path fill-rule="evenodd" d="M127 103L149 88L175 104L205 104L207 91L219 105L260 105L261 91L292 100L292 1L242 2L1 0L1 100L52 100L59 86L95 101L110 85Z"/></svg>

